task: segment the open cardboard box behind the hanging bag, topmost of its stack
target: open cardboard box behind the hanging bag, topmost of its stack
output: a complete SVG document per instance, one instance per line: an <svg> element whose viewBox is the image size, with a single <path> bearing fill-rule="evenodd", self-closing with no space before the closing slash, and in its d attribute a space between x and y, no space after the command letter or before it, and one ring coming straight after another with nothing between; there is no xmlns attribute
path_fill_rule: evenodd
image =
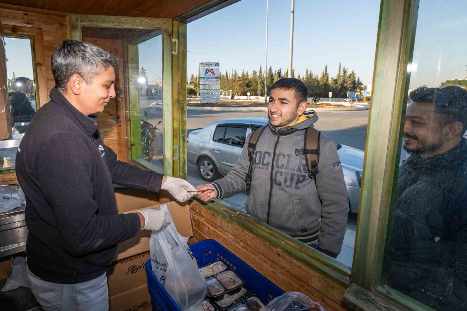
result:
<svg viewBox="0 0 467 311"><path fill-rule="evenodd" d="M167 204L169 207L169 212L172 216L177 231L182 236L193 236L193 227L191 225L191 212L188 202L180 203L177 201L172 201L164 204ZM160 209L160 205L154 205L145 208ZM137 208L135 210L127 211L124 213L137 212L138 210L141 210L141 208ZM114 261L149 251L150 237L151 231L140 230L140 232L137 233L136 236L134 236L133 238L121 242L117 247L117 252L115 253Z"/></svg>

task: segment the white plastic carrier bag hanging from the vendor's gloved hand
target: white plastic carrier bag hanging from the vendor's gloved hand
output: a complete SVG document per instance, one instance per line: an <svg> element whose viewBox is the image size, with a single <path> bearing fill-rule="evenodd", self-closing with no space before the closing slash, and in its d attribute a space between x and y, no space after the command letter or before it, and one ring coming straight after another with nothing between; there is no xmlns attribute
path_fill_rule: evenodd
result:
<svg viewBox="0 0 467 311"><path fill-rule="evenodd" d="M161 210L170 215L167 205ZM170 216L170 219L172 217ZM207 294L207 283L198 270L189 238L177 232L173 221L161 231L153 231L149 241L151 268L172 299L182 310L194 311Z"/></svg>

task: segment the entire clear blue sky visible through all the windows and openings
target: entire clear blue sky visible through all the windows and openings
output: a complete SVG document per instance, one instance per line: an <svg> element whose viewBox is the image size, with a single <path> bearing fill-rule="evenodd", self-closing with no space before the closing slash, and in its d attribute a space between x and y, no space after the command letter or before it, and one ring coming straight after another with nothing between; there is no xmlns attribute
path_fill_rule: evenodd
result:
<svg viewBox="0 0 467 311"><path fill-rule="evenodd" d="M465 0L420 1L410 88L438 86L467 72L467 6ZM321 74L337 73L339 62L371 84L380 1L295 1L294 57L296 74L306 68ZM187 55L187 74L196 75L197 62L220 63L221 72L264 67L266 0L242 0L188 24L187 49L207 54ZM27 40L6 39L8 77L32 77ZM268 66L289 64L290 1L269 0ZM161 37L140 46L140 66L149 79L160 78ZM147 57L151 55L151 57ZM20 60L20 61L18 61ZM263 68L264 70L264 68Z"/></svg>

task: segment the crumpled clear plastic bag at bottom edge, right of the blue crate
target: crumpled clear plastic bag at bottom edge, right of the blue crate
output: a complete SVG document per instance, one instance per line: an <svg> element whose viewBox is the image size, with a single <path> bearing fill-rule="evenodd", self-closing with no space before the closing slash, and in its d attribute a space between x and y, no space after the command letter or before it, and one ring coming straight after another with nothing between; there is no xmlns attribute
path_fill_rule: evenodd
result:
<svg viewBox="0 0 467 311"><path fill-rule="evenodd" d="M321 304L296 291L289 291L274 298L265 311L325 311Z"/></svg>

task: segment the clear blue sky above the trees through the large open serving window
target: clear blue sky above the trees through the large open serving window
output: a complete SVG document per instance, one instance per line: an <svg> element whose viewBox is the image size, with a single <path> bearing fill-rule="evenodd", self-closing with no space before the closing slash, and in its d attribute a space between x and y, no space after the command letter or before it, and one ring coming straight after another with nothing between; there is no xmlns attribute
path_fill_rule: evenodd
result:
<svg viewBox="0 0 467 311"><path fill-rule="evenodd" d="M268 67L289 66L290 0L269 0ZM379 18L377 0L295 1L293 68L337 74L339 62L371 84ZM242 0L187 26L187 49L209 51L199 61L220 63L221 72L264 70L266 0ZM187 55L188 76L197 57Z"/></svg>

